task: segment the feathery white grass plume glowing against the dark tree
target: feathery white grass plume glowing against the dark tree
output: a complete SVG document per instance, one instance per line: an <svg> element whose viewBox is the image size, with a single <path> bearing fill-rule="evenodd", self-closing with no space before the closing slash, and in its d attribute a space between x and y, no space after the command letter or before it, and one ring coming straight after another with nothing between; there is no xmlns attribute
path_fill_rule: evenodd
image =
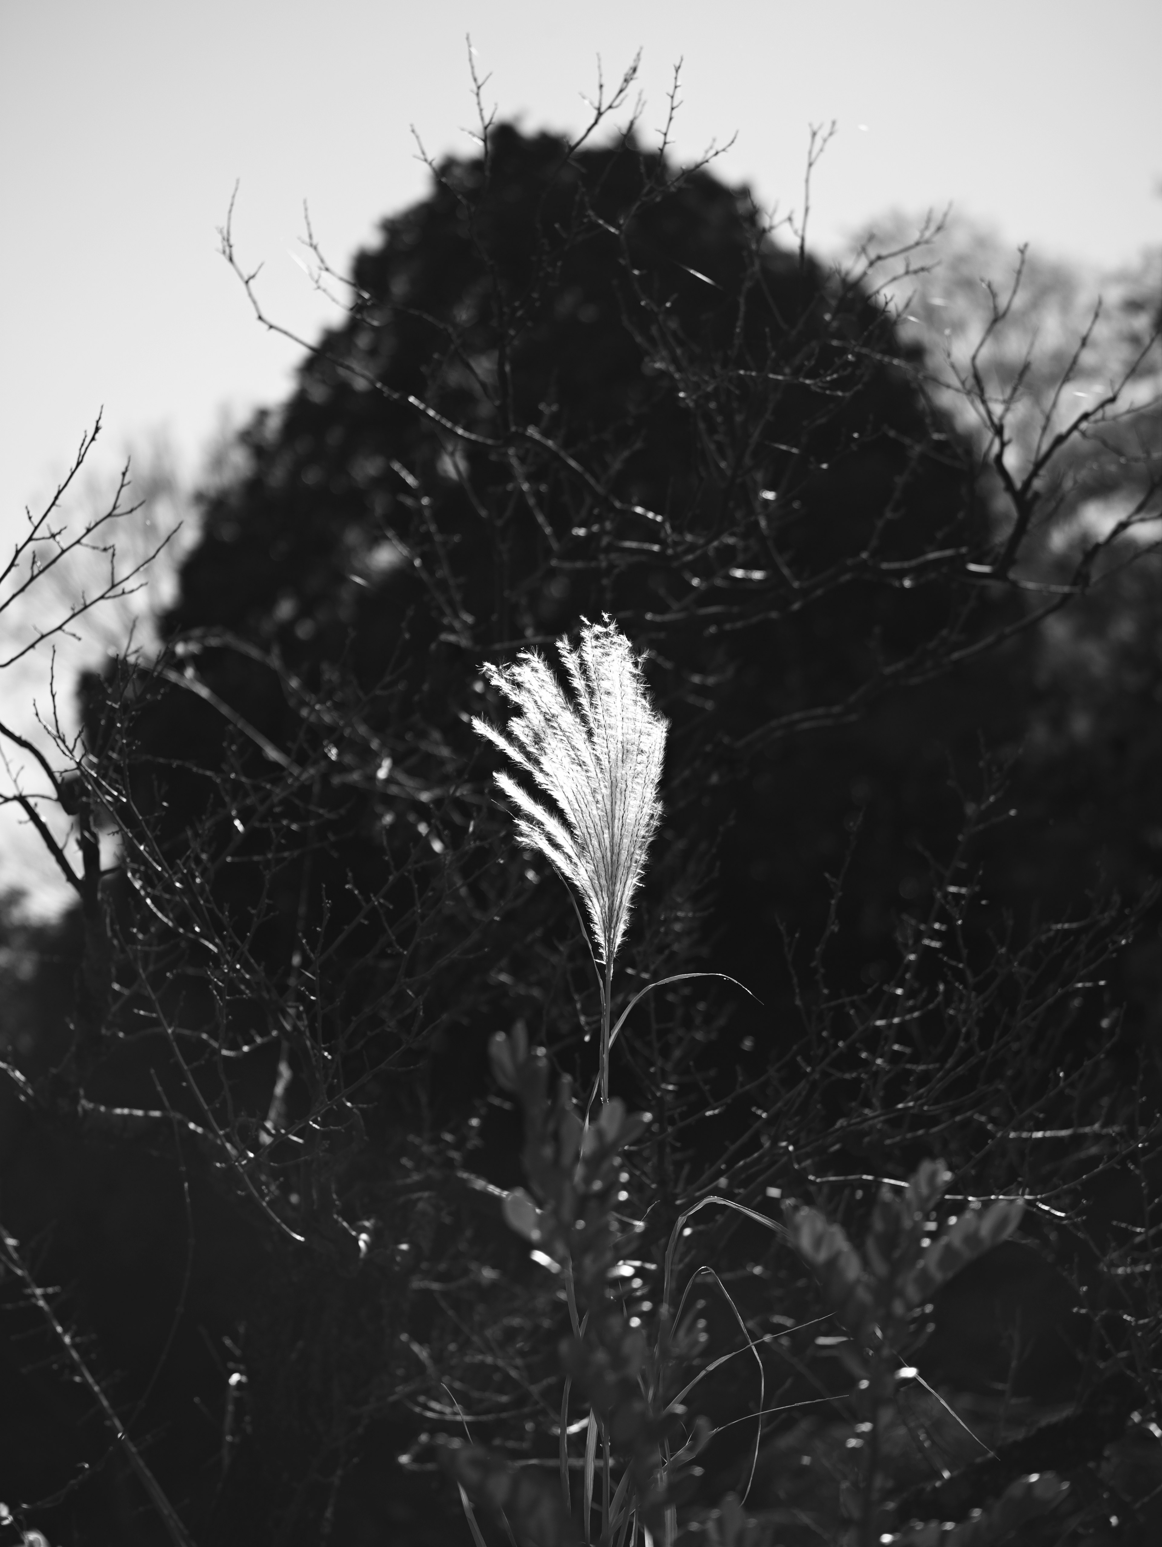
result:
<svg viewBox="0 0 1162 1547"><path fill-rule="evenodd" d="M543 656L523 650L512 665L483 668L520 710L509 735L484 719L473 718L472 726L557 808L542 804L509 774L497 774L517 808L518 840L540 849L576 886L608 972L662 811L658 783L668 727L617 625L608 617L583 622L577 650L557 640L576 701Z"/></svg>

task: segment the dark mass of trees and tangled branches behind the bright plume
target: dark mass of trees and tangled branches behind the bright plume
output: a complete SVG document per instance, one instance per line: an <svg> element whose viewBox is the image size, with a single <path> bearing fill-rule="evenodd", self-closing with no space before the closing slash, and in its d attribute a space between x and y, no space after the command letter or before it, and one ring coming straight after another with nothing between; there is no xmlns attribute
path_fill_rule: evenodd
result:
<svg viewBox="0 0 1162 1547"><path fill-rule="evenodd" d="M828 271L633 136L497 125L433 170L350 283L320 258L343 320L206 495L161 647L82 681L40 770L77 903L11 913L0 959L11 1539L467 1542L435 1445L466 1428L555 1477L568 1318L501 1221L486 1046L523 1023L585 1089L597 993L469 718L483 661L610 614L672 724L620 1004L755 995L662 989L614 1049L653 1114L630 1306L710 1196L854 1235L939 1157L953 1208L1027 1197L910 1323L873 1515L842 1296L692 1216L692 1368L757 1341L690 1397L681 1530L865 1542L1004 1496L973 1541L1156 1541L1156 408L1074 408L1066 359L1038 439L969 370L972 433L879 299L916 252ZM755 1453L747 1536L713 1511ZM1046 1471L1065 1502L1006 1496Z"/></svg>

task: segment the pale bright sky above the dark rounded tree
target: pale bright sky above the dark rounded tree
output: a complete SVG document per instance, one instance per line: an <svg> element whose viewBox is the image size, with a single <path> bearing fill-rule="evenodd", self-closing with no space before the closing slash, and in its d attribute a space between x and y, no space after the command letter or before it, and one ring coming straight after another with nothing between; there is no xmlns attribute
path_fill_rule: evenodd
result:
<svg viewBox="0 0 1162 1547"><path fill-rule="evenodd" d="M217 254L235 181L240 255L309 336L303 200L342 268L425 190L412 125L470 150L467 32L528 128L577 128L597 56L611 85L642 48L648 135L682 60L678 153L737 135L719 173L780 210L836 119L823 249L948 201L1102 266L1162 240L1157 0L0 0L0 546L102 405L102 466L161 429L192 466L223 408L285 393L297 351Z"/></svg>

